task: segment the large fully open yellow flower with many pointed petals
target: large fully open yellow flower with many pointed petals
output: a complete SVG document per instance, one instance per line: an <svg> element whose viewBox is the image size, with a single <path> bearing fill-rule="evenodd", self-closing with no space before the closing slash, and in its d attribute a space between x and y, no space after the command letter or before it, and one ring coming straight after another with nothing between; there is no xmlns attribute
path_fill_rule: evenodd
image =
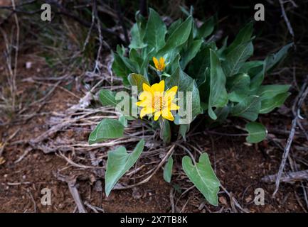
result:
<svg viewBox="0 0 308 227"><path fill-rule="evenodd" d="M143 92L139 95L137 106L142 106L140 118L147 114L154 113L154 121L159 119L159 116L174 121L174 116L171 111L178 110L180 107L174 104L174 98L178 90L177 86L165 91L165 82L161 80L159 84L153 84L151 87L147 84L142 84Z"/></svg>

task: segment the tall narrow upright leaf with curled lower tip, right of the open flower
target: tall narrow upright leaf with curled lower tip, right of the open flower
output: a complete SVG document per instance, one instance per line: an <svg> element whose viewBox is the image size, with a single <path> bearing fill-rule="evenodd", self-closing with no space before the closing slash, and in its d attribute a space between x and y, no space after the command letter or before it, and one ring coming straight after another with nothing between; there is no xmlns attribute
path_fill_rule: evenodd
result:
<svg viewBox="0 0 308 227"><path fill-rule="evenodd" d="M225 90L225 74L221 68L221 62L213 50L211 55L211 81L210 94L208 97L208 115L216 120L217 116L213 111L213 107L223 107L228 103L228 94Z"/></svg>

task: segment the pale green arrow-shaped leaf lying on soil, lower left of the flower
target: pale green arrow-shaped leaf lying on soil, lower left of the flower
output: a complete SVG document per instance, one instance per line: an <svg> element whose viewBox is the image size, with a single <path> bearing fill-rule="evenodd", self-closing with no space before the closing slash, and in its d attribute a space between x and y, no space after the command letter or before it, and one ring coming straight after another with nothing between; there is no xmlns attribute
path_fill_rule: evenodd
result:
<svg viewBox="0 0 308 227"><path fill-rule="evenodd" d="M107 168L105 174L105 193L109 196L117 181L129 170L142 153L144 140L137 143L132 153L127 153L123 146L108 153Z"/></svg>

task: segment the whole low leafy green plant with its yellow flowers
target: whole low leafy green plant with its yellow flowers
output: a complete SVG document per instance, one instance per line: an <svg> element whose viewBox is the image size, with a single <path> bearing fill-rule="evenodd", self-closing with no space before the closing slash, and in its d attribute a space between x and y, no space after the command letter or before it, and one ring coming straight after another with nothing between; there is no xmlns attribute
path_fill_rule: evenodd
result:
<svg viewBox="0 0 308 227"><path fill-rule="evenodd" d="M131 29L128 54L126 48L118 46L112 69L122 77L124 85L134 86L132 93L137 90L139 101L134 96L120 99L115 92L102 89L103 105L129 106L129 109L122 112L119 121L103 119L90 134L90 144L122 137L127 121L137 118L137 106L140 118L144 120L147 116L144 121L160 127L164 143L179 136L185 140L191 122L198 115L206 119L204 127L216 126L228 116L244 118L248 122L245 126L248 143L258 143L265 138L265 126L255 121L259 114L267 114L284 103L290 95L290 85L262 85L262 82L292 44L265 60L249 60L253 55L253 23L246 24L230 45L225 38L218 47L213 41L216 26L213 17L200 27L192 15L166 26L159 14L149 9L147 20L137 13L136 21ZM141 140L132 153L127 153L124 147L108 153L107 196L134 165L143 148L144 140ZM167 182L171 180L172 165L170 156L164 167ZM182 167L206 200L217 206L220 182L208 155L200 155L199 162L192 155L185 156Z"/></svg>

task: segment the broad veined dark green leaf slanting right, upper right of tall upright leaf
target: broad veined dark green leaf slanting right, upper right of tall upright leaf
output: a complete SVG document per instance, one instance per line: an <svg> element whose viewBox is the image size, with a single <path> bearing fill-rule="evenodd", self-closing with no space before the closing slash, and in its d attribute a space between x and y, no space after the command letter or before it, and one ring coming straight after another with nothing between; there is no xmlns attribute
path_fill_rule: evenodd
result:
<svg viewBox="0 0 308 227"><path fill-rule="evenodd" d="M231 77L237 74L240 67L244 65L244 62L253 55L253 43L242 43L236 46L232 51L225 55L225 61L223 62L223 72L226 77Z"/></svg>

